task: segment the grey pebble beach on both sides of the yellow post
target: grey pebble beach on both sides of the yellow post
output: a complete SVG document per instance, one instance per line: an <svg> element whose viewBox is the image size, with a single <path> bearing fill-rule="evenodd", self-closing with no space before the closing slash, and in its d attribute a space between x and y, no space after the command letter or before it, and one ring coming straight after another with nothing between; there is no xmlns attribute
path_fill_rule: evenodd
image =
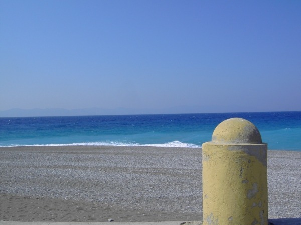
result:
<svg viewBox="0 0 301 225"><path fill-rule="evenodd" d="M200 148L0 148L0 220L202 220ZM270 218L301 217L301 152L268 151Z"/></svg>

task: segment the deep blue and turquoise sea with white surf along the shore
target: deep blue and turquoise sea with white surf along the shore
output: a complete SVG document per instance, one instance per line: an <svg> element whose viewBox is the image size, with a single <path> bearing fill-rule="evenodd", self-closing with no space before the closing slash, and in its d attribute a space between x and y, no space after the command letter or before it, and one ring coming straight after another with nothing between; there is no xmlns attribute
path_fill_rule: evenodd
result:
<svg viewBox="0 0 301 225"><path fill-rule="evenodd" d="M268 149L301 151L301 112L0 118L0 147L201 147L219 123L234 117L252 122Z"/></svg>

